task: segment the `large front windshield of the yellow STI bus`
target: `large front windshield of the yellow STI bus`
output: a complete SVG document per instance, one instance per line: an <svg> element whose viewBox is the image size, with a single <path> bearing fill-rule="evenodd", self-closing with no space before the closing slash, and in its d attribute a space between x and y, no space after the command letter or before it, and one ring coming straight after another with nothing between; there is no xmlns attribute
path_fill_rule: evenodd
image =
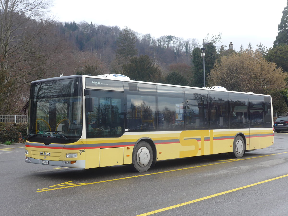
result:
<svg viewBox="0 0 288 216"><path fill-rule="evenodd" d="M79 140L82 135L81 92L82 81L78 78L32 83L28 140L44 144Z"/></svg>

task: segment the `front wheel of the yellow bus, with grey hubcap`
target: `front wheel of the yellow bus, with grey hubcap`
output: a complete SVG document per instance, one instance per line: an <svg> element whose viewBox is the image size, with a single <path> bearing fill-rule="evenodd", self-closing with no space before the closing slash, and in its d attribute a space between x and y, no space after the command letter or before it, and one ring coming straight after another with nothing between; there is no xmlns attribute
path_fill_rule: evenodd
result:
<svg viewBox="0 0 288 216"><path fill-rule="evenodd" d="M153 150L151 146L145 142L139 142L134 148L133 153L133 167L135 171L145 172L147 171L153 161Z"/></svg>

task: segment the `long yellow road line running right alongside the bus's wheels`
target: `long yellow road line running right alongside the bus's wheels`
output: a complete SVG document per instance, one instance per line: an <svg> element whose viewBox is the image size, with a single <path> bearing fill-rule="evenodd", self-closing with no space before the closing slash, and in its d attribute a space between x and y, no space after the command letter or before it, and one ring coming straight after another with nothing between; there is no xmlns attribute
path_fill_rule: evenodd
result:
<svg viewBox="0 0 288 216"><path fill-rule="evenodd" d="M270 154L270 155L262 155L262 156L252 157L252 158L242 158L242 159L240 159L240 160L261 158L261 157L272 156L272 155L277 155L277 154L285 154L285 153L288 153L288 151L286 151L286 152L281 152L281 153L276 153L276 154ZM234 161L238 161L238 160L226 160L226 161L224 161L224 162L219 162L219 163L214 163L214 164L205 164L205 165L201 165L201 166L192 166L192 167L181 168L181 169L176 169L176 170L167 170L167 171L162 171L162 172L158 172L158 173L149 173L149 174L143 174L143 175L136 175L136 176L124 177L124 178L119 178L119 179L109 179L109 180L105 180L105 181L96 181L96 182L91 182L91 183L78 183L78 184L69 185L69 186L66 186L66 187L58 187L58 188L52 188L52 189L43 188L43 190L42 190L42 189L38 189L37 192L46 192L46 191L64 189L64 188L69 188L69 187L77 187L77 186L92 185L92 184L109 182L109 181L117 181L117 180L123 180L123 179L131 179L131 178L136 178L136 177L142 177L142 176L148 176L148 175L155 175L155 174L161 174L161 173L169 173L169 172L174 172L174 171L179 171L179 170L187 170L187 169L192 169L192 168L198 168L198 167L204 167L204 166L211 166L211 165L217 165L217 164L223 164L223 163L229 163L229 162L234 162ZM50 187L51 187L51 186L50 186Z"/></svg>

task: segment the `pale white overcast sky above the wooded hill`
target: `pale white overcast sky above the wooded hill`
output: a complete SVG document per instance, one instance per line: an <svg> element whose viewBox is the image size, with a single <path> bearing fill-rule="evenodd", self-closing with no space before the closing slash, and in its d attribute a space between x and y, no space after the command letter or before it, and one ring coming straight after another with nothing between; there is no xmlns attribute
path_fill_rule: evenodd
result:
<svg viewBox="0 0 288 216"><path fill-rule="evenodd" d="M52 14L60 22L86 21L107 26L128 26L152 37L173 35L196 38L200 43L209 35L222 32L223 43L234 50L253 49L262 43L270 48L287 0L54 0Z"/></svg>

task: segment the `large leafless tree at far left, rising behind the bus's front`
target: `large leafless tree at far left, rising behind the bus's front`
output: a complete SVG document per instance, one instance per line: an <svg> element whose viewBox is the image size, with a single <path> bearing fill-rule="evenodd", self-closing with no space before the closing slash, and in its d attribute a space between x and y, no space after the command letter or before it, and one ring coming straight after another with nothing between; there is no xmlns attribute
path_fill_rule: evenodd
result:
<svg viewBox="0 0 288 216"><path fill-rule="evenodd" d="M27 98L32 80L58 76L63 51L56 22L45 19L49 0L0 1L0 110L12 114ZM61 36L61 35L60 35ZM65 35L63 35L64 37ZM24 100L25 98L25 100ZM10 101L13 102L10 105Z"/></svg>

